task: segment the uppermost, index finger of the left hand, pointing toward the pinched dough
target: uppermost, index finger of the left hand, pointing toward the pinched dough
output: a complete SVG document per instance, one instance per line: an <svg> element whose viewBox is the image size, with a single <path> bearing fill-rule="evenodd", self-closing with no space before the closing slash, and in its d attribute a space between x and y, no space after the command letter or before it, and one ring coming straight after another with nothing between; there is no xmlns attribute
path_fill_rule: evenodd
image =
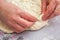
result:
<svg viewBox="0 0 60 40"><path fill-rule="evenodd" d="M28 21L32 21L32 22L37 21L37 19L36 19L34 16L30 15L29 13L27 13L27 12L25 12L25 11L20 12L20 10L18 10L18 13L19 13L19 15L20 15L22 18L24 18L24 19L26 19L26 20L28 20Z"/></svg>

